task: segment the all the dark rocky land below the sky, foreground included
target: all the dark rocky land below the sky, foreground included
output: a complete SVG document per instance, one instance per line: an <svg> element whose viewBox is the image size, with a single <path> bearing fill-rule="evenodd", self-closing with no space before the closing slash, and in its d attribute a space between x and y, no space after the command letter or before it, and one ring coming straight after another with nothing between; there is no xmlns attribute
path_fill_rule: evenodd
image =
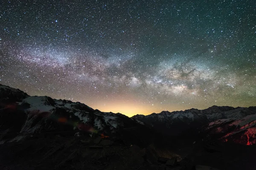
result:
<svg viewBox="0 0 256 170"><path fill-rule="evenodd" d="M0 169L256 169L256 107L129 118L0 85Z"/></svg>

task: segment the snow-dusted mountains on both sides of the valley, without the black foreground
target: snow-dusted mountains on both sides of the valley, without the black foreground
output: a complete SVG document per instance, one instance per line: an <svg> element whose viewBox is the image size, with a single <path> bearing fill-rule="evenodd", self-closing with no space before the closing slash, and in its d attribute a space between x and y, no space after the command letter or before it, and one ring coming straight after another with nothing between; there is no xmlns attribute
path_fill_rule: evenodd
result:
<svg viewBox="0 0 256 170"><path fill-rule="evenodd" d="M101 112L80 102L29 96L19 89L0 85L1 142L15 142L32 133L99 133L140 128L165 135L207 134L224 142L256 144L256 107L212 106L204 110L162 111L131 118ZM203 140L203 139L202 139Z"/></svg>

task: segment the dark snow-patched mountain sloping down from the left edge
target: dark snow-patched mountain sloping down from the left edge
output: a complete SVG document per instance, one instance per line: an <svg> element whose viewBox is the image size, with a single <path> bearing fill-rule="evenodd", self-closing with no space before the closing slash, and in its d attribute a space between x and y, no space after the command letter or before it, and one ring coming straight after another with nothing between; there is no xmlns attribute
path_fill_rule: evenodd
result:
<svg viewBox="0 0 256 170"><path fill-rule="evenodd" d="M0 133L2 139L19 140L20 134L53 131L113 130L141 126L120 113L101 112L80 102L29 96L0 85ZM3 135L4 134L4 135Z"/></svg>

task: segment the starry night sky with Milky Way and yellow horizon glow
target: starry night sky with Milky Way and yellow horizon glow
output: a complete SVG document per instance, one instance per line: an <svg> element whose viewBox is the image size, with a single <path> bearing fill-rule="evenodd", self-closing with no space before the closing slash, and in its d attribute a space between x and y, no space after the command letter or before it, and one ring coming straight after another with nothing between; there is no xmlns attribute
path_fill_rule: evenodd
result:
<svg viewBox="0 0 256 170"><path fill-rule="evenodd" d="M0 84L127 116L256 105L255 0L0 7Z"/></svg>

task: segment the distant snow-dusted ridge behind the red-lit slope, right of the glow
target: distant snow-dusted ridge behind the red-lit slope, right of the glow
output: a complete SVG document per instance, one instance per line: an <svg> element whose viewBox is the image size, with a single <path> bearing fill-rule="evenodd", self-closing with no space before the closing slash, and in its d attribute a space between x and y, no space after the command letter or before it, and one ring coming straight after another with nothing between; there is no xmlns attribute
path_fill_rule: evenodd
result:
<svg viewBox="0 0 256 170"><path fill-rule="evenodd" d="M162 133L177 135L193 127L201 127L218 119L235 120L253 114L256 114L256 107L212 106L204 110L192 108L185 111L162 111L161 113L152 113L147 116L135 115L132 119L143 125L150 125Z"/></svg>

